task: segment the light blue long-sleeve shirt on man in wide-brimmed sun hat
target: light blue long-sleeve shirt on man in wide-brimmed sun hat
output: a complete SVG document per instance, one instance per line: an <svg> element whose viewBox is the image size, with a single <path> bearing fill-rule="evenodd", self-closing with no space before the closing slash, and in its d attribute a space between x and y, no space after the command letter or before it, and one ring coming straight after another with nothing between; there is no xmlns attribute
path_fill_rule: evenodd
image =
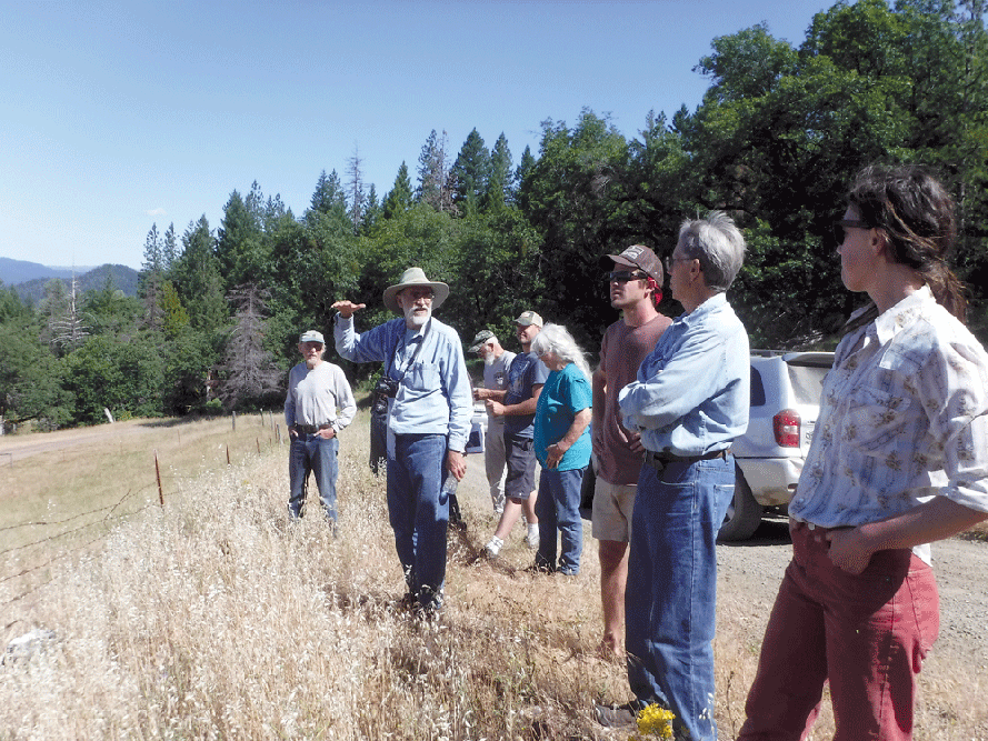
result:
<svg viewBox="0 0 988 741"><path fill-rule="evenodd" d="M463 451L473 394L455 329L433 317L421 330L409 330L399 318L358 334L352 317L337 314L333 336L340 357L357 363L382 361L388 374L401 380L388 415L395 434L445 434L449 450Z"/></svg>

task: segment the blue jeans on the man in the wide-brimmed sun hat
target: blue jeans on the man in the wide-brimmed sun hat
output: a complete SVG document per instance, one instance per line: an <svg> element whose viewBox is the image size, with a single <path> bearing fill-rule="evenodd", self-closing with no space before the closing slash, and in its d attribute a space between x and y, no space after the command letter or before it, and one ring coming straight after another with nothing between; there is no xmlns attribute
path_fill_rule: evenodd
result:
<svg viewBox="0 0 988 741"><path fill-rule="evenodd" d="M388 459L388 519L408 591L423 609L442 607L449 497L441 492L445 434L396 434Z"/></svg>

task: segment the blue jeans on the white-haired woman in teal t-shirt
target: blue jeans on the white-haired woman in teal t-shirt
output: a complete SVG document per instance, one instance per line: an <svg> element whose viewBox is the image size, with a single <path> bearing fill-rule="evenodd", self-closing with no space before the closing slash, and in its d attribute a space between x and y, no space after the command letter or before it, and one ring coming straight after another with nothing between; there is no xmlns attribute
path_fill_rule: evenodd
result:
<svg viewBox="0 0 988 741"><path fill-rule="evenodd" d="M580 572L583 552L583 522L580 519L580 485L583 471L557 471L543 468L539 475L536 517L539 518L539 550L536 565L547 571L575 577ZM556 531L562 543L559 564L556 563Z"/></svg>

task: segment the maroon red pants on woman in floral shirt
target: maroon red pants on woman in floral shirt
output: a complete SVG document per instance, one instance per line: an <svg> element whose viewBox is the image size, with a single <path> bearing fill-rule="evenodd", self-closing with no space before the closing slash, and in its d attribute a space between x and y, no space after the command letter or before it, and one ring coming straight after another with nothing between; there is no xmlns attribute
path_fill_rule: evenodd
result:
<svg viewBox="0 0 988 741"><path fill-rule="evenodd" d="M791 530L792 561L738 740L806 738L827 680L835 741L911 739L916 675L940 624L932 569L909 550L891 550L852 575L830 562L826 530Z"/></svg>

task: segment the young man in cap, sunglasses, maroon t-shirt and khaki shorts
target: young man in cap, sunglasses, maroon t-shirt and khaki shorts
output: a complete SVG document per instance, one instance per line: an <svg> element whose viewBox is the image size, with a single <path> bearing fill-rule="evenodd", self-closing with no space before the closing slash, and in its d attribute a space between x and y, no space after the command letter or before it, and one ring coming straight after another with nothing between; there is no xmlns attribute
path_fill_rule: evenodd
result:
<svg viewBox="0 0 988 741"><path fill-rule="evenodd" d="M621 427L618 392L635 380L638 367L672 321L658 312L662 299L662 263L647 247L632 244L620 254L601 258L608 273L610 304L623 317L607 328L600 344L600 367L593 372L592 533L600 541L600 598L603 605L601 649L623 652L625 582L631 510L641 469L638 434Z"/></svg>

